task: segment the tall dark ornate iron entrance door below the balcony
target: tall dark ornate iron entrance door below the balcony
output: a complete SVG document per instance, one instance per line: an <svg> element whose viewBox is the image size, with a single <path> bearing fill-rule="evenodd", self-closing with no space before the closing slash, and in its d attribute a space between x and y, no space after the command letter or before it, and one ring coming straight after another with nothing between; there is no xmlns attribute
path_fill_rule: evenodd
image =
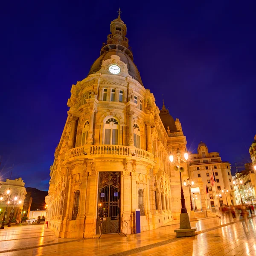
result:
<svg viewBox="0 0 256 256"><path fill-rule="evenodd" d="M97 230L102 234L120 232L120 172L100 172Z"/></svg>

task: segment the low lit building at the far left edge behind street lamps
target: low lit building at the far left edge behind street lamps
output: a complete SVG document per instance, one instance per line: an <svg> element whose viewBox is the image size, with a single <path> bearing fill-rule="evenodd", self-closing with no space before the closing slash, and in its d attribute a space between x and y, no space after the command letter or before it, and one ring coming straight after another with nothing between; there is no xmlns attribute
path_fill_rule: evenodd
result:
<svg viewBox="0 0 256 256"><path fill-rule="evenodd" d="M6 223L8 223L9 218L15 219L16 222L20 222L26 197L25 183L21 178L15 180L6 179L6 181L0 181L0 183L2 184L0 187L0 198L2 198L2 200L0 200L0 209L3 212L3 214L0 215L0 221L3 220L3 216L6 214ZM10 190L10 193L7 196L6 192L8 190ZM17 203L14 204L15 197L17 197ZM6 212L7 200L9 200L10 203L8 204ZM18 203L19 201L21 201L20 204Z"/></svg>

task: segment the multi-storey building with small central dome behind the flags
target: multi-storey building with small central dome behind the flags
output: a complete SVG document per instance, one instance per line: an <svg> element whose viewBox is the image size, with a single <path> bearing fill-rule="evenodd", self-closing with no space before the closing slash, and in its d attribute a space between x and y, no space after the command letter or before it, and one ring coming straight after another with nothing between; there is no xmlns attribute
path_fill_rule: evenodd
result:
<svg viewBox="0 0 256 256"><path fill-rule="evenodd" d="M206 191L206 186L208 186L209 195L203 193L200 195L201 202L199 199L198 204L206 204L208 209L214 211L215 205L213 200L212 184L211 184L211 166L215 175L215 188L218 195L218 206L222 204L236 204L234 200L234 186L231 176L230 163L221 160L220 154L218 152L209 152L207 145L201 141L198 144L197 154L189 155L189 172L192 178L195 179L195 183L202 180L204 183L204 191ZM198 181L196 181L198 180ZM225 195L222 190L228 189ZM193 188L192 188L193 192ZM227 198L226 198L227 196ZM197 198L199 195L197 196ZM193 200L193 202L195 199Z"/></svg>

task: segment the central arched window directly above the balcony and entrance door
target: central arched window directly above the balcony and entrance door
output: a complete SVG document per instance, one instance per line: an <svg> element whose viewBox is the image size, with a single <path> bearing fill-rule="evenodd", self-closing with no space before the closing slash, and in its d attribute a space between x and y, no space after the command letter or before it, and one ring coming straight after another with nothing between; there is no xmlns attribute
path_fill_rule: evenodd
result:
<svg viewBox="0 0 256 256"><path fill-rule="evenodd" d="M104 144L117 145L118 144L118 122L111 117L105 122L105 136Z"/></svg>

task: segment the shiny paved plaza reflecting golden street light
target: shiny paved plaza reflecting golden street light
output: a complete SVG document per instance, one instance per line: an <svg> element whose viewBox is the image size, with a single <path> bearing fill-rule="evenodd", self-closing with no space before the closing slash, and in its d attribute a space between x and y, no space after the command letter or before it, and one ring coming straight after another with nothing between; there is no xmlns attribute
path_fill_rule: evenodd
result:
<svg viewBox="0 0 256 256"><path fill-rule="evenodd" d="M197 236L176 238L178 224L170 222L157 230L100 239L57 238L44 225L5 227L0 230L0 256L54 255L178 255L244 256L256 255L256 218L233 221L229 217L192 222Z"/></svg>

